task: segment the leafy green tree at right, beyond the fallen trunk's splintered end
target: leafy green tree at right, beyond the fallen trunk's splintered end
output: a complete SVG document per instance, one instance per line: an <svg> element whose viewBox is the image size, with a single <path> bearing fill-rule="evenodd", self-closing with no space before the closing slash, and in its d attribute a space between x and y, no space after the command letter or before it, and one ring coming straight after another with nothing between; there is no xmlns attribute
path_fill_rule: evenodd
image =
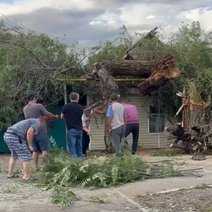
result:
<svg viewBox="0 0 212 212"><path fill-rule="evenodd" d="M169 43L182 71L179 89L193 81L205 101L212 98L212 32L205 33L199 22L182 24Z"/></svg>

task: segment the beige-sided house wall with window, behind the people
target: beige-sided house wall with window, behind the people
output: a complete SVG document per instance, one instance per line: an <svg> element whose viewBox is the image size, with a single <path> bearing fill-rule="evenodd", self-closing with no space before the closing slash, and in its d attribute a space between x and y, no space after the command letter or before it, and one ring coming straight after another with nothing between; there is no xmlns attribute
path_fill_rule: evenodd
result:
<svg viewBox="0 0 212 212"><path fill-rule="evenodd" d="M124 102L137 106L140 116L139 146L142 148L163 148L167 147L167 135L164 132L165 114L160 105L155 104L149 96L128 94ZM91 118L91 150L105 150L104 144L105 119L98 115ZM128 143L132 142L131 135Z"/></svg>

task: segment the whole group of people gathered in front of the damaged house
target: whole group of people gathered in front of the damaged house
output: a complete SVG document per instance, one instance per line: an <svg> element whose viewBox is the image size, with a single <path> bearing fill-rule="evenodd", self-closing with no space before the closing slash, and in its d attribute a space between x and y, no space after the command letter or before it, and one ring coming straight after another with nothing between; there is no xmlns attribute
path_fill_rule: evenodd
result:
<svg viewBox="0 0 212 212"><path fill-rule="evenodd" d="M47 157L50 140L46 123L49 119L65 119L67 150L73 158L86 156L90 142L90 116L93 113L105 114L98 109L84 108L79 104L79 94L70 94L70 103L65 104L61 115L55 115L37 103L36 92L27 95L27 105L23 108L24 120L7 129L4 140L11 151L7 177L14 177L17 158L23 162L22 179L30 179L30 161L33 158L35 169L39 170L39 156ZM133 135L132 154L136 153L139 136L139 116L135 105L120 103L119 95L110 96L107 112L107 131L112 134L116 156L121 154L121 142L130 133Z"/></svg>

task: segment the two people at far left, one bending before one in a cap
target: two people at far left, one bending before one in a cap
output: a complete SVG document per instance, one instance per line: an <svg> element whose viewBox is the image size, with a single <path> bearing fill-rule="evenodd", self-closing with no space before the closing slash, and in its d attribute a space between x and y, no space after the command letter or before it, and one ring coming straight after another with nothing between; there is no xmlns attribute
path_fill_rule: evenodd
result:
<svg viewBox="0 0 212 212"><path fill-rule="evenodd" d="M39 170L39 156L47 156L50 140L46 123L48 119L59 118L37 103L38 96L34 91L27 94L27 105L23 108L24 120L17 122L7 129L4 134L11 157L9 160L8 178L14 177L14 167L17 158L23 162L22 179L30 179L30 161L33 158L35 170Z"/></svg>

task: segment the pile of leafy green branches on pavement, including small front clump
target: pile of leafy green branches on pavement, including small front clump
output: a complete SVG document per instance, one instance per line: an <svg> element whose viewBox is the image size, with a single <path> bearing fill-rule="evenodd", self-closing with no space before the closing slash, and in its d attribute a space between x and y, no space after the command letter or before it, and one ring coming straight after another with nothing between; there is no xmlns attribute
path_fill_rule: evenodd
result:
<svg viewBox="0 0 212 212"><path fill-rule="evenodd" d="M73 159L56 149L45 160L41 179L46 188L52 190L52 201L66 207L77 198L70 191L73 186L106 188L136 180L177 176L175 166L170 161L147 165L141 157L130 154L120 158L108 155Z"/></svg>

